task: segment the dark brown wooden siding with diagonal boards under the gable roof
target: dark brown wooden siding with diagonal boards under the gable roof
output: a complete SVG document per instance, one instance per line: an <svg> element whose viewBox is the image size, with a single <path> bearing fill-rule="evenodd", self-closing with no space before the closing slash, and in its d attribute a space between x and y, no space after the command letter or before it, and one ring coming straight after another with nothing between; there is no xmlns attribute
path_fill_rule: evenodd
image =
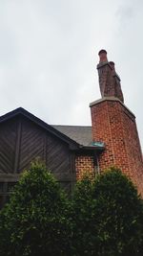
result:
<svg viewBox="0 0 143 256"><path fill-rule="evenodd" d="M0 172L19 174L36 158L47 165L67 190L75 181L69 145L24 116L0 124Z"/></svg>

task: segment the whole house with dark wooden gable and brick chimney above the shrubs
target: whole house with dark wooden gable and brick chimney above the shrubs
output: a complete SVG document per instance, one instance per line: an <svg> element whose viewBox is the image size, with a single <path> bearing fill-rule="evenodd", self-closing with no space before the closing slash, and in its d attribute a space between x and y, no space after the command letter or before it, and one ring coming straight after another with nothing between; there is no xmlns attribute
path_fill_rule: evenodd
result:
<svg viewBox="0 0 143 256"><path fill-rule="evenodd" d="M85 172L116 166L143 195L143 162L133 113L105 50L99 52L102 98L91 107L92 127L50 126L19 107L0 117L0 206L31 161L40 158L68 190Z"/></svg>

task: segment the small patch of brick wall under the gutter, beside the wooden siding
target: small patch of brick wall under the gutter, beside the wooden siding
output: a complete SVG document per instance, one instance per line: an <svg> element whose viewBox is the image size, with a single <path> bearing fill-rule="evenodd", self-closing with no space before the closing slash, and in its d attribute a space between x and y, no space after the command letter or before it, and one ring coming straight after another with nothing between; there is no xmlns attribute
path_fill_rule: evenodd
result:
<svg viewBox="0 0 143 256"><path fill-rule="evenodd" d="M75 157L76 179L82 178L86 173L94 175L94 160L92 155L77 155Z"/></svg>

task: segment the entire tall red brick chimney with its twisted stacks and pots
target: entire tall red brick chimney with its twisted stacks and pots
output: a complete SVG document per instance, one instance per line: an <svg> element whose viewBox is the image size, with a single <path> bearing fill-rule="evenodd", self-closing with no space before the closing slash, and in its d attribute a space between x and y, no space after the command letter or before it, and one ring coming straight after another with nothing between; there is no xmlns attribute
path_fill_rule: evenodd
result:
<svg viewBox="0 0 143 256"><path fill-rule="evenodd" d="M93 102L92 140L105 143L99 156L100 171L116 166L132 178L143 196L143 159L135 124L135 116L124 105L120 79L107 52L99 52L97 65L101 99Z"/></svg>

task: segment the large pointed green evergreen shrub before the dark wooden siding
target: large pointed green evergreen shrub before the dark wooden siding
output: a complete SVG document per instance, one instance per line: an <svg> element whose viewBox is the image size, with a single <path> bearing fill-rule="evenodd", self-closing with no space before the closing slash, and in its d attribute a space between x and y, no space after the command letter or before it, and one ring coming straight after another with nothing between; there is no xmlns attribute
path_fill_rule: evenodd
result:
<svg viewBox="0 0 143 256"><path fill-rule="evenodd" d="M0 214L0 255L65 255L68 200L42 164L32 164Z"/></svg>

